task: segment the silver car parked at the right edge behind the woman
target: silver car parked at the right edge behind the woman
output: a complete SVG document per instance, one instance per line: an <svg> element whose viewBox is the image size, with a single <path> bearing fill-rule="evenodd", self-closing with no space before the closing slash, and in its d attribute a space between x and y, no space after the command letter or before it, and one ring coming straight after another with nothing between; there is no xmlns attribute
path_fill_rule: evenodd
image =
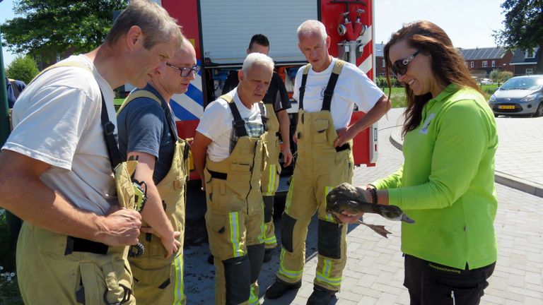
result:
<svg viewBox="0 0 543 305"><path fill-rule="evenodd" d="M491 95L494 116L543 116L543 75L510 78Z"/></svg>

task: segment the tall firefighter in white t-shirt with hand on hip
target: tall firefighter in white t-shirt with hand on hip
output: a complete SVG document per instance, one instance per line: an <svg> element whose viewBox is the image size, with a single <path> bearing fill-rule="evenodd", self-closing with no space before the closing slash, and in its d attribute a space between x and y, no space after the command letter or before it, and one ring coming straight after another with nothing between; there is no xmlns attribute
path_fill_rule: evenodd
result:
<svg viewBox="0 0 543 305"><path fill-rule="evenodd" d="M294 135L298 159L281 217L279 271L266 296L277 299L301 286L305 237L317 213L318 263L308 304L329 304L341 285L347 226L325 211L326 196L335 186L351 183L352 138L378 121L390 102L366 73L328 53L330 37L320 21L300 25L298 47L309 61L298 70L294 84L300 109ZM350 124L354 104L366 116Z"/></svg>

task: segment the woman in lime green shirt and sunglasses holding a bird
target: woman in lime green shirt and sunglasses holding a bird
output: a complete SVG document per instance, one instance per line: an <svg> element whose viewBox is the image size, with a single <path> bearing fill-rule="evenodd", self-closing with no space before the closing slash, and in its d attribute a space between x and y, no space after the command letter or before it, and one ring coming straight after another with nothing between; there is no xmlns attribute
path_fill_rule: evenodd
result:
<svg viewBox="0 0 543 305"><path fill-rule="evenodd" d="M411 304L479 304L497 258L494 115L437 25L404 25L384 54L389 86L392 72L407 95L404 165L368 185L366 201L397 205L415 220L402 222Z"/></svg>

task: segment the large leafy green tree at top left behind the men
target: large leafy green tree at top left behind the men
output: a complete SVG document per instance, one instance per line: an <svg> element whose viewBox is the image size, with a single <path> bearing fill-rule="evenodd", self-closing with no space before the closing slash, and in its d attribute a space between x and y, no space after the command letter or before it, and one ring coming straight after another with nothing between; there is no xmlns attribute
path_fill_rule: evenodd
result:
<svg viewBox="0 0 543 305"><path fill-rule="evenodd" d="M74 48L88 52L98 47L112 25L112 11L129 0L15 0L16 18L0 25L5 45L12 52L54 59Z"/></svg>

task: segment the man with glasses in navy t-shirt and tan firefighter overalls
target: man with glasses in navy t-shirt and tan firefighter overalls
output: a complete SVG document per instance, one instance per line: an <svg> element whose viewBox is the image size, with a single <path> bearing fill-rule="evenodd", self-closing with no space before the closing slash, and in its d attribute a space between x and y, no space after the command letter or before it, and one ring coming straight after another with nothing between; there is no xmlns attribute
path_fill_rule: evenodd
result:
<svg viewBox="0 0 543 305"><path fill-rule="evenodd" d="M199 67L185 39L165 66L149 75L119 109L119 150L138 160L134 179L147 196L139 240L145 251L129 258L139 304L185 304L183 238L189 146L177 138L170 100L187 92Z"/></svg>

